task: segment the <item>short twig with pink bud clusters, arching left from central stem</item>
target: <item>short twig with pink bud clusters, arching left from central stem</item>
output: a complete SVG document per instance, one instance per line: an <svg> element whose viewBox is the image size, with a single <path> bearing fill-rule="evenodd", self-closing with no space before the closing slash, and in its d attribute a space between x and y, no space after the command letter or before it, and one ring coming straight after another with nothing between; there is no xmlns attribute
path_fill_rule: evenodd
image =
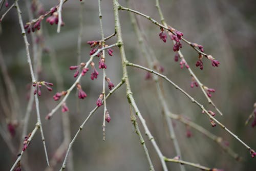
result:
<svg viewBox="0 0 256 171"><path fill-rule="evenodd" d="M84 66L83 68L87 68L91 61L93 60L94 56L96 56L99 52L105 50L105 49L109 49L115 46L119 46L120 44L117 42L116 44L110 45L108 47L103 47L101 49L98 49L93 55L90 56L90 59L86 62L86 66ZM52 111L46 116L46 119L50 119L52 117L52 115L60 108L60 106L65 103L66 99L68 98L70 92L74 89L74 87L76 87L76 84L79 82L79 80L81 79L82 74L80 73L80 75L77 77L76 81L72 84L72 86L67 90L67 94L65 95L65 97L63 97L63 99L56 105L56 107L54 109L52 109Z"/></svg>

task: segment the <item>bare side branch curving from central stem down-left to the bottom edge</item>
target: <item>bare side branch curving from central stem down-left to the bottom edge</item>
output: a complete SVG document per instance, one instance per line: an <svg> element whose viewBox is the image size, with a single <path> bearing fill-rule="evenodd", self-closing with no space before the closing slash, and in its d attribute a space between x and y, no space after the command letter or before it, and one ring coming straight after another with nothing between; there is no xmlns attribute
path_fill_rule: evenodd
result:
<svg viewBox="0 0 256 171"><path fill-rule="evenodd" d="M116 86L114 89L112 89L112 90L109 92L108 95L106 95L106 99L108 99L118 88L120 88L120 87L122 86L122 84L124 83L124 81L125 81L125 80L122 79L121 82L119 82L119 83L117 84L117 86ZM104 101L102 101L102 102L104 103ZM64 169L66 168L67 158L68 158L69 152L70 152L70 150L71 150L71 148L72 148L72 146L73 146L73 143L74 143L75 140L77 139L77 136L78 136L78 134L80 133L80 131L83 129L84 125L85 125L85 124L87 123L87 121L91 118L91 116L97 111L98 108L99 108L99 107L96 106L96 107L90 112L90 114L88 115L88 117L86 118L86 120L84 120L83 123L79 126L78 131L76 132L74 138L72 139L72 141L71 141L70 144L69 144L69 148L68 148L68 150L67 150L65 159L64 159L64 161L63 161L63 163L62 163L62 166L61 166L60 170L64 170Z"/></svg>

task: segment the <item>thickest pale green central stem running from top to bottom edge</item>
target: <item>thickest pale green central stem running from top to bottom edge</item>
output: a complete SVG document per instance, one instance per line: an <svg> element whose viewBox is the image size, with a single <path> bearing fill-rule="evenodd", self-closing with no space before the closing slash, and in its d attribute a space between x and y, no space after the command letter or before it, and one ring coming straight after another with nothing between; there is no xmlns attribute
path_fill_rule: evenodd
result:
<svg viewBox="0 0 256 171"><path fill-rule="evenodd" d="M119 49L120 49L120 54L121 54L121 59L122 59L123 78L125 79L125 84L126 84L126 96L127 96L128 102L131 104L131 106L135 110L136 115L139 117L139 119L144 127L145 134L148 136L148 139L152 142L154 148L156 149L156 152L160 158L163 170L166 171L166 170L168 170L168 168L164 161L164 156L163 156L162 152L160 151L151 132L148 130L146 121L142 117L142 115L137 107L137 104L133 98L133 94L132 94L132 90L131 90L131 86L130 86L130 82L129 82L129 77L127 75L127 69L126 69L126 57L125 57L125 52L124 52L124 47L123 47L120 19L119 19L119 13L118 13L119 4L118 4L117 0L113 0L113 6L114 6L114 16L115 16L115 30L117 32L117 42L120 42Z"/></svg>

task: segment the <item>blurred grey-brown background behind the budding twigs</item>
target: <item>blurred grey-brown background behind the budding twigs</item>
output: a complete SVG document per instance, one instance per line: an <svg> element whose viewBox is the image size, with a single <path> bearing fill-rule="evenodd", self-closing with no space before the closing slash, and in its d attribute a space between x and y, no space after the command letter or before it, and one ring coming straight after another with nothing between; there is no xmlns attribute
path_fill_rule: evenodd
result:
<svg viewBox="0 0 256 171"><path fill-rule="evenodd" d="M9 1L10 5L12 3L13 1ZM19 2L24 24L30 20L31 1L27 1L27 3L28 6L24 1ZM58 1L41 1L39 3L48 11ZM126 6L125 1L119 1L119 3ZM160 22L155 1L132 1L132 6ZM195 66L198 54L183 43L181 51L190 68L205 86L216 90L211 99L224 114L223 116L217 114L216 118L249 146L256 148L256 130L251 127L251 122L247 126L244 124L254 109L253 103L256 102L255 2L249 0L161 0L160 6L168 25L183 32L184 38L187 40L203 45L207 54L211 54L220 61L219 67L212 67L209 60L203 59L204 69L200 70ZM79 12L80 8L82 8L82 13ZM6 10L7 8L3 7L0 16ZM33 14L34 17L38 17L36 12ZM61 113L61 109L59 109L51 120L45 120L45 116L58 104L58 101L54 101L53 95L56 92L69 89L75 81L74 71L69 70L69 67L78 63L79 16L82 16L83 23L81 61L86 62L91 50L86 42L101 38L98 15L98 1L86 1L82 7L79 1L68 1L63 5L62 17L65 26L61 27L60 33L56 33L57 25L51 26L44 19L41 22L40 31L34 34L34 38L39 37L39 43L36 46L33 44L32 34L28 34L31 56L38 56L38 80L54 84L52 92L42 87L42 93L39 97L39 108L49 158L56 161L52 165L52 170L58 170L61 167L63 157L66 154L64 151L63 154L56 157L56 149L65 136L74 137L79 125L94 109L96 100L102 91L102 70L97 69L99 77L96 80L90 79L91 71L89 71L81 79L82 89L88 97L83 100L78 99L77 91L74 89L66 102L70 112ZM105 36L111 35L114 33L112 1L102 1L102 15L104 34ZM180 69L179 62L174 61L175 53L172 50L173 44L169 37L164 43L159 39L159 27L140 16L137 19L143 26L148 44L153 47L160 65L164 68L164 74L203 103L206 109L215 111L207 103L207 99L200 88L190 88L191 77L187 69ZM127 59L147 66L139 50L138 39L131 25L129 12L120 11L120 20ZM30 93L29 85L31 84L25 44L20 34L15 8L11 9L0 23L0 33L2 51L0 54L2 58L0 74L0 149L2 155L0 155L0 170L9 170L16 160L16 155L20 153L23 143L24 116ZM113 37L106 41L106 44L111 45L115 42L116 37ZM37 49L33 50L33 46ZM113 48L113 50L113 57L106 56L106 75L116 85L122 77L122 68L118 48ZM98 68L97 57L94 62ZM163 155L169 158L175 157L174 145L167 132L167 125L162 115L154 81L145 80L146 72L142 70L130 67L128 72L135 100ZM6 81L6 77L11 80L11 83ZM16 90L17 96L15 97L10 97L9 94L12 86ZM223 137L228 142L229 147L244 159L244 162L236 161L225 153L218 144L192 128L190 129L192 136L187 138L186 125L173 120L183 160L200 163L208 167L223 168L224 170L255 170L255 159L250 157L248 150L240 142L227 134L220 126L211 127L209 118L201 114L198 106L191 103L181 92L164 81L163 86L166 102L172 113L182 114L211 133ZM107 108L111 115L111 122L106 123L106 140L102 141L103 108L101 107L84 126L74 142L70 155L72 160L69 158L67 170L148 170L143 148L131 123L125 86L118 89L107 100ZM7 129L8 123L16 125L13 136ZM35 123L36 111L35 105L33 105L27 134L34 129ZM63 123L70 123L70 133L63 131L63 129L65 130ZM147 140L140 122L139 126L155 169L162 170L156 151L151 142ZM66 139L64 149L67 147L67 142L70 140ZM179 164L176 163L167 163L167 165L170 170L180 169ZM190 166L185 166L185 168L186 170L198 170ZM24 153L22 169L47 170L39 131Z"/></svg>

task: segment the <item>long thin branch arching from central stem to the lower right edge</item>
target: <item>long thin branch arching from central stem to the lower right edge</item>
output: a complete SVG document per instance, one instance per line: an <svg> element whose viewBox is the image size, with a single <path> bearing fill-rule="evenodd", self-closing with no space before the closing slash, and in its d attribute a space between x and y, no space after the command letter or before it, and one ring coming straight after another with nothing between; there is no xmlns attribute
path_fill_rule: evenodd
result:
<svg viewBox="0 0 256 171"><path fill-rule="evenodd" d="M249 152L254 152L254 150L248 146L244 141L242 141L236 134L232 133L230 130L227 129L227 127L225 125L223 125L220 121L218 121L216 118L214 118L213 116L211 116L211 114L209 114L209 112L204 108L204 106L199 103L197 100L195 100L193 97L191 97L188 93L186 93L183 89L181 89L179 86L177 86L177 84L175 84L172 80L168 79L165 75L162 75L154 70L151 70L151 69L148 69L146 67L142 67L140 65L136 65L134 63L131 63L131 62L127 62L126 61L126 65L127 66L132 66L132 67L136 67L136 68L140 68L142 70L145 70L145 71L148 71L148 72L151 72L153 74L156 74L158 75L159 77L165 79L167 82L169 82L170 84L172 84L176 89L178 89L179 91L181 91L185 96L187 96L191 102L193 103L196 103L199 108L201 108L202 112L207 114L208 117L212 120L214 120L218 125L220 125L226 132L228 132L231 136L233 136L234 138L236 138L240 143L242 143L248 150Z"/></svg>

